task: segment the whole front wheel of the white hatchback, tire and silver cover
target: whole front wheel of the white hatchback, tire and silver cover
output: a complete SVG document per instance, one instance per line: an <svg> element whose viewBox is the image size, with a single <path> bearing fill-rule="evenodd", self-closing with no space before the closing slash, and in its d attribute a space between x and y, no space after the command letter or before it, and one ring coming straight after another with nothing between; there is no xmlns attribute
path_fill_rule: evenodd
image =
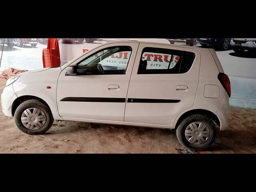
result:
<svg viewBox="0 0 256 192"><path fill-rule="evenodd" d="M18 106L14 121L19 130L30 135L40 135L50 129L54 122L50 108L40 100L31 99Z"/></svg>

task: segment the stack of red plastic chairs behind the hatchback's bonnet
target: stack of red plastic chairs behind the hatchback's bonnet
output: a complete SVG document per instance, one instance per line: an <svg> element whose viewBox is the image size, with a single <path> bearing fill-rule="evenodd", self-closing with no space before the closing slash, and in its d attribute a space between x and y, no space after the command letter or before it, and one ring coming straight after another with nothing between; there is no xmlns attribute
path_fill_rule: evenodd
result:
<svg viewBox="0 0 256 192"><path fill-rule="evenodd" d="M43 49L42 58L44 68L60 66L60 49L57 38L48 39L47 48Z"/></svg>

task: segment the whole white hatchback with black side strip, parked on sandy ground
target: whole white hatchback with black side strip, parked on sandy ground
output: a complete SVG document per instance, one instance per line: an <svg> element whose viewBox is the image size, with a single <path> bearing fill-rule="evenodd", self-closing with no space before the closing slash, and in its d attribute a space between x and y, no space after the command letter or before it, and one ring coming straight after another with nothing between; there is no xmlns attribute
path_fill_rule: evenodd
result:
<svg viewBox="0 0 256 192"><path fill-rule="evenodd" d="M26 134L54 120L176 129L204 150L228 127L230 81L213 49L126 41L103 44L64 66L10 78L2 110Z"/></svg>

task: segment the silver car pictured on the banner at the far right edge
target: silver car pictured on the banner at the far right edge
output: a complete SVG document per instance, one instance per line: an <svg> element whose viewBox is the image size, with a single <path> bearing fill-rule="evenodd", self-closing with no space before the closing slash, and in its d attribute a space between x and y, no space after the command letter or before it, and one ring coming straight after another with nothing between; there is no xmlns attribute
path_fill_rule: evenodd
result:
<svg viewBox="0 0 256 192"><path fill-rule="evenodd" d="M256 50L256 39L252 38L233 38L231 39L230 45L234 52L255 51Z"/></svg>

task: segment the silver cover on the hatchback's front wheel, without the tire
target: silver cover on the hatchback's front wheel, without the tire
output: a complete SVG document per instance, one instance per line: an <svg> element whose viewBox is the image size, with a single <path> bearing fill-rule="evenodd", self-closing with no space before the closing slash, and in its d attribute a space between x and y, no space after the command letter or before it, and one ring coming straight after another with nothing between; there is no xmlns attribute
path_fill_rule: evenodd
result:
<svg viewBox="0 0 256 192"><path fill-rule="evenodd" d="M44 112L38 108L28 108L21 115L22 124L30 130L38 130L44 126L46 116Z"/></svg>

